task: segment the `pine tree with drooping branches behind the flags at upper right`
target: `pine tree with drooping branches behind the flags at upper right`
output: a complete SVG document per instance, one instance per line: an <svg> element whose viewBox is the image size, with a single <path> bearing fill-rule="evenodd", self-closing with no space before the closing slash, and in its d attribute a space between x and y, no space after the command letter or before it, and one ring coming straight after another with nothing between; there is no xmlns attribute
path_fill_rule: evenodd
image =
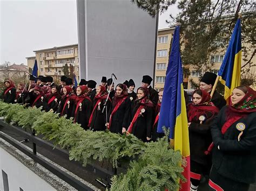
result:
<svg viewBox="0 0 256 191"><path fill-rule="evenodd" d="M208 70L212 67L211 55L220 49L227 48L238 19L239 12L245 12L241 18L242 52L245 65L242 73L250 72L255 56L256 3L253 1L179 1L180 13L171 17L169 23L180 24L183 38L181 56L184 65L192 65L196 69Z"/></svg>

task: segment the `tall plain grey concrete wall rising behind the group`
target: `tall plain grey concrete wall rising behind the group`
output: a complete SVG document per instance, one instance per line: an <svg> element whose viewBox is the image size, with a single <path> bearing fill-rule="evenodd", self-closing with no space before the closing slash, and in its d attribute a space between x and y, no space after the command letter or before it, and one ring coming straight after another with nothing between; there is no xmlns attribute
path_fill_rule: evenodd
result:
<svg viewBox="0 0 256 191"><path fill-rule="evenodd" d="M156 18L127 0L77 0L77 16L81 78L100 83L114 73L137 87L153 78Z"/></svg>

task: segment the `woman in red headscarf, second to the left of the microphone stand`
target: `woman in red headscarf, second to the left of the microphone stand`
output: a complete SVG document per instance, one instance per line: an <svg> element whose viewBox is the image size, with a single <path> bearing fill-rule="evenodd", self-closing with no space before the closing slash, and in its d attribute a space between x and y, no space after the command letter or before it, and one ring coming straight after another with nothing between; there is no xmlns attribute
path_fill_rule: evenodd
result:
<svg viewBox="0 0 256 191"><path fill-rule="evenodd" d="M83 129L87 130L89 119L92 111L92 102L88 96L88 88L83 86L78 86L76 88L76 100L72 111L72 117L74 122L80 124Z"/></svg>

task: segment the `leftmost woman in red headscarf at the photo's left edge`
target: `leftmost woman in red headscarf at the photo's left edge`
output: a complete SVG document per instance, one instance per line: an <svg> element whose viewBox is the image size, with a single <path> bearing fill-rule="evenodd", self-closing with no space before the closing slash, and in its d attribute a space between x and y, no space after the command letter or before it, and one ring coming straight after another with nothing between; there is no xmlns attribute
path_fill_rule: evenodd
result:
<svg viewBox="0 0 256 191"><path fill-rule="evenodd" d="M11 80L4 81L5 89L2 93L2 99L5 103L15 103L16 89L15 84Z"/></svg>

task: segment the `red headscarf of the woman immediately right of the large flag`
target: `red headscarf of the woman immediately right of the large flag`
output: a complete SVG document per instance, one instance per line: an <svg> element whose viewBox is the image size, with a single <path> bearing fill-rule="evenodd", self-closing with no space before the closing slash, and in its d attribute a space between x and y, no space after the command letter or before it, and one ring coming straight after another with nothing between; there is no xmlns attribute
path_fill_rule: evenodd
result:
<svg viewBox="0 0 256 191"><path fill-rule="evenodd" d="M196 91L198 90L194 90L192 97L196 93ZM209 112L212 114L210 116L211 118L219 112L219 109L215 107L212 102L210 102L211 100L210 94L207 93L207 91L205 90L200 90L200 91L202 93L201 102L197 105L193 103L188 104L188 114L187 114L188 122L191 122L194 118L198 119L201 115L204 115L206 118L208 118L207 113Z"/></svg>

